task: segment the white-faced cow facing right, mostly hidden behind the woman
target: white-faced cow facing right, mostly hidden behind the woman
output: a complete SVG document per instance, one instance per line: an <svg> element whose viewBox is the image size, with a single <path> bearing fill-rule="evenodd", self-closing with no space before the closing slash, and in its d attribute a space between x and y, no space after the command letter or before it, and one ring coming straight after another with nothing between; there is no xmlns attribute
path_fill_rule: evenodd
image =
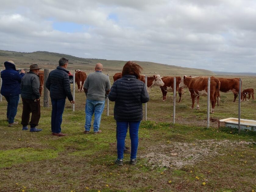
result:
<svg viewBox="0 0 256 192"><path fill-rule="evenodd" d="M122 77L122 73L116 73L113 76L114 81L120 79ZM140 80L143 81L145 83L145 76L142 75L140 77ZM151 87L153 86L164 86L164 82L162 81L160 75L154 75L154 76L148 76L148 80L147 80L147 90L148 92L150 92Z"/></svg>

